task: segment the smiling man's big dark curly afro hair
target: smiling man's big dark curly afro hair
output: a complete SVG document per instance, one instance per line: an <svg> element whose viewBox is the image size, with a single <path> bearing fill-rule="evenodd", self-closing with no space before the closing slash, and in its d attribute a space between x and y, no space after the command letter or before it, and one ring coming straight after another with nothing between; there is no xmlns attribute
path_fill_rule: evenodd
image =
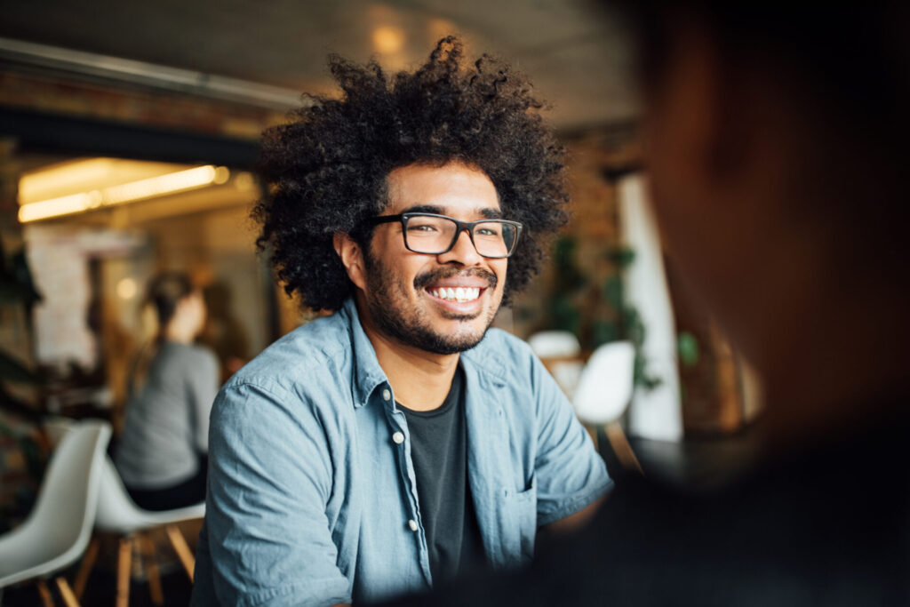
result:
<svg viewBox="0 0 910 607"><path fill-rule="evenodd" d="M305 306L336 310L353 293L332 238L368 238L363 224L386 206L386 177L411 164L480 168L505 218L525 232L509 259L504 301L537 273L542 240L566 221L564 149L538 113L526 77L490 56L462 66L455 37L440 40L416 72L387 77L372 61L329 57L340 99L310 96L286 125L263 137L260 171L268 195L253 217L258 246ZM360 235L358 237L358 235Z"/></svg>

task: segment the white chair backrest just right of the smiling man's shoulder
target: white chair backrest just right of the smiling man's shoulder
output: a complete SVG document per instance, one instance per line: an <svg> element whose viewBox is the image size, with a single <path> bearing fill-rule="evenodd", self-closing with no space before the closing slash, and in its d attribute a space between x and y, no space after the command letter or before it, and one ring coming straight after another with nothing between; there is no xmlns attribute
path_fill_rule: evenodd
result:
<svg viewBox="0 0 910 607"><path fill-rule="evenodd" d="M572 395L578 418L592 424L617 420L632 400L634 372L631 342L612 341L595 349Z"/></svg>

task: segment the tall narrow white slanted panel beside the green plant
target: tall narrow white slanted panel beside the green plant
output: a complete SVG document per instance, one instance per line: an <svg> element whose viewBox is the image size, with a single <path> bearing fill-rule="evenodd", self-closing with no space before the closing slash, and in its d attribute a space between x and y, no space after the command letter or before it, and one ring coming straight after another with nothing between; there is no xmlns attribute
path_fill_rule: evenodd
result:
<svg viewBox="0 0 910 607"><path fill-rule="evenodd" d="M652 440L681 440L676 323L657 223L641 175L622 178L617 192L622 236L635 252L634 261L626 270L625 295L627 302L638 309L645 328L642 355L648 375L660 379L660 384L652 389L635 387L629 407L629 434Z"/></svg>

